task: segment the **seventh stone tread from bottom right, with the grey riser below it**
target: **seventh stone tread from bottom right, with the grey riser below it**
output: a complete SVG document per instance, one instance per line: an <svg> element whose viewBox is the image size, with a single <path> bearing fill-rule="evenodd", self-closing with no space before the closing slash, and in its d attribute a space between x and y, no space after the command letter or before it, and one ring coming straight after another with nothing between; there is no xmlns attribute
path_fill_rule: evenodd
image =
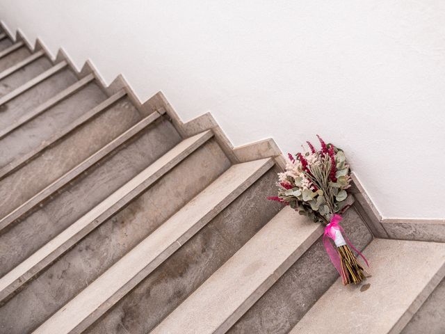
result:
<svg viewBox="0 0 445 334"><path fill-rule="evenodd" d="M91 74L76 81L0 129L0 166L9 164L11 167L13 161L20 161L22 157L29 159L29 152L37 152L42 143L50 143L60 129L70 127L83 114L104 102L106 95L91 82L93 79Z"/></svg>

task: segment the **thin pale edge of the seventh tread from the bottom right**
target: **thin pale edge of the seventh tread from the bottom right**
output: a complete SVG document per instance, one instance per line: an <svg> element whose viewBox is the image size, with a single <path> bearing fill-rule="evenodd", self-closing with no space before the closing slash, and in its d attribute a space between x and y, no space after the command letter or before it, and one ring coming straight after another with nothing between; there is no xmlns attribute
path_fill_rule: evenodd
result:
<svg viewBox="0 0 445 334"><path fill-rule="evenodd" d="M89 84L92 80L95 79L94 74L88 74L86 77L83 77L79 81L76 81L71 86L65 88L61 92L57 93L53 97L49 98L49 100L43 102L39 106L35 107L35 109L29 111L29 113L25 113L21 117L19 117L17 120L15 120L11 125L8 127L0 130L0 139L4 138L11 132L13 132L18 127L21 127L22 125L26 124L26 122L29 122L30 120L33 120L34 118L40 116L44 111L47 111L54 105L58 104L59 102L65 100L67 97L70 97L70 95L73 95L74 93L81 90L83 87L85 87L87 84ZM1 172L0 172L1 175ZM1 179L2 176L0 176Z"/></svg>

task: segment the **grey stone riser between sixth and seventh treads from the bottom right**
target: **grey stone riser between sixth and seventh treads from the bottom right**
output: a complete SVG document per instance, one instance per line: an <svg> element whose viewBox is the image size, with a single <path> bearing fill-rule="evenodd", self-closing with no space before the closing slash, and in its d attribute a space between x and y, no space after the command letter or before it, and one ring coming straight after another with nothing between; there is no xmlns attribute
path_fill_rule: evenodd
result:
<svg viewBox="0 0 445 334"><path fill-rule="evenodd" d="M41 116L26 122L6 137L0 139L0 166L38 148L77 118L106 99L106 95L96 84L90 84L78 93L42 113ZM15 118L17 119L17 118ZM2 119L3 120L3 119ZM6 124L6 123L5 123ZM1 127L1 125L0 125Z"/></svg>

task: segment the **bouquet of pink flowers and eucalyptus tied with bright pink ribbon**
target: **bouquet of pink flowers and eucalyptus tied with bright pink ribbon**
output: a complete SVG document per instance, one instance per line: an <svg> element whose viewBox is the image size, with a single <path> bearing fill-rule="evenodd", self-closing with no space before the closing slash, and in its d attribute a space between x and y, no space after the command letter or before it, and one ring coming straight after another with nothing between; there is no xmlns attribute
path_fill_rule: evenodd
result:
<svg viewBox="0 0 445 334"><path fill-rule="evenodd" d="M348 207L350 168L342 150L326 144L318 136L321 150L307 141L310 152L288 154L289 161L284 173L279 173L278 196L268 199L290 205L299 214L308 216L316 223L325 225L323 244L343 285L357 284L365 279L364 267L357 261L353 248L364 262L366 258L343 236L339 225L340 214ZM332 239L336 248L332 246Z"/></svg>

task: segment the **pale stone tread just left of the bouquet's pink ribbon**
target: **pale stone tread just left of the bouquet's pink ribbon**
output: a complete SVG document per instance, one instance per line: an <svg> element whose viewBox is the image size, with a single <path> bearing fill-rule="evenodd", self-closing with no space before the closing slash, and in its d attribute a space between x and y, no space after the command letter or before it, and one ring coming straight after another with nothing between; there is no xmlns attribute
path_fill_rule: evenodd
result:
<svg viewBox="0 0 445 334"><path fill-rule="evenodd" d="M322 233L284 207L150 333L226 333Z"/></svg>

